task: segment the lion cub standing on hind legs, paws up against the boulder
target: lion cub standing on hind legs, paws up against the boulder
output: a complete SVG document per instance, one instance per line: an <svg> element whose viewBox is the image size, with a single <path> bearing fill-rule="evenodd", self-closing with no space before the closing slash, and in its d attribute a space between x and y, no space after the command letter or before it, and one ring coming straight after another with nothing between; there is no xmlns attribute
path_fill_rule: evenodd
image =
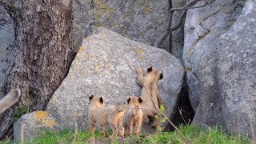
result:
<svg viewBox="0 0 256 144"><path fill-rule="evenodd" d="M136 73L138 75L138 85L142 86L141 97L143 99L143 122L150 125L150 121L154 121L154 115L158 114L157 110L159 110L159 107L163 104L162 98L158 91L158 81L163 78L163 74L159 70L152 68L152 66L147 69L146 76L144 76L143 70L140 67L136 69ZM153 101L148 93L150 93Z"/></svg>

